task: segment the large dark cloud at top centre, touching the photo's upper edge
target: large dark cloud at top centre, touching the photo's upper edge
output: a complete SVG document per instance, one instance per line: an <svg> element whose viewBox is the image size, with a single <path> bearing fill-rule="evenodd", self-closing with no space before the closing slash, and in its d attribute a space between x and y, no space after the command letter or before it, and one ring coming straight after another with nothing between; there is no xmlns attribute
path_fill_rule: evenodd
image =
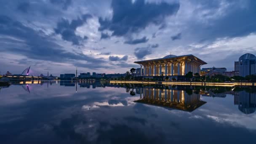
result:
<svg viewBox="0 0 256 144"><path fill-rule="evenodd" d="M149 24L160 25L166 16L179 10L179 3L145 3L144 0L112 0L112 19L99 18L99 30L113 31L112 36L139 32Z"/></svg>

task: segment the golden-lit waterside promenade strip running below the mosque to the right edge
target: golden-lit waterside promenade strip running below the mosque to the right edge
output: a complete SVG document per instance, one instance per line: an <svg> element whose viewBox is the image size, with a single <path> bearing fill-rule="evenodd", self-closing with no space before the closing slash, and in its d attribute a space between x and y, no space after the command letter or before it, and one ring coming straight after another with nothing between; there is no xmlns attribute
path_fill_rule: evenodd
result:
<svg viewBox="0 0 256 144"><path fill-rule="evenodd" d="M137 84L163 84L163 85L206 85L206 86L236 86L236 85L246 85L255 86L255 83L216 83L216 82L175 82L175 81L120 81L120 80L110 80L110 83L137 83Z"/></svg>

